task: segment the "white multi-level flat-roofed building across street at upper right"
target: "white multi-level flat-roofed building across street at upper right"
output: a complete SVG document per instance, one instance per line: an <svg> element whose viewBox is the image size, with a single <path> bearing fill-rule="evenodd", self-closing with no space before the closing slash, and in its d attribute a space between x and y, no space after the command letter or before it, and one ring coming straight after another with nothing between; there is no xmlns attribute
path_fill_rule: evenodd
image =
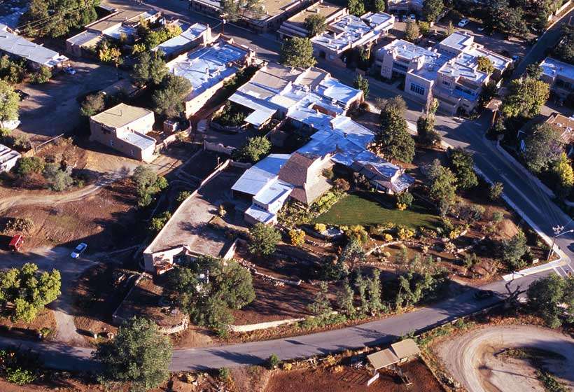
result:
<svg viewBox="0 0 574 392"><path fill-rule="evenodd" d="M491 61L492 74L479 71L479 57ZM491 76L500 78L512 60L484 49L474 37L457 32L428 49L395 40L379 49L377 64L384 78L405 76L405 94L425 103L434 97L440 109L454 115L475 109L482 87Z"/></svg>

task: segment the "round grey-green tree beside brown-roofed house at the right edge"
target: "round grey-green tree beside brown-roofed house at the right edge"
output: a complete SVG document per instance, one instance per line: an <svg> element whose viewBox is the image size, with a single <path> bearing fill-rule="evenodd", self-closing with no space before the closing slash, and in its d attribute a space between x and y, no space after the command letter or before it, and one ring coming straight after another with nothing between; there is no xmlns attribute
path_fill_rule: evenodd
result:
<svg viewBox="0 0 574 392"><path fill-rule="evenodd" d="M525 144L524 160L528 169L534 173L549 169L564 151L564 141L559 130L546 123L536 125Z"/></svg>

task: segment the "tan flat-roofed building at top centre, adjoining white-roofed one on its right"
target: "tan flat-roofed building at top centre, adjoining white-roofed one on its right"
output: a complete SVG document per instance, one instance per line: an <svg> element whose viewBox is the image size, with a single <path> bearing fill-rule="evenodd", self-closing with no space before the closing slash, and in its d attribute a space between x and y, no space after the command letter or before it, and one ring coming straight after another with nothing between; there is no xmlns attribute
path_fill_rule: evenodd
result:
<svg viewBox="0 0 574 392"><path fill-rule="evenodd" d="M327 1L318 1L283 22L279 29L279 37L283 39L293 36L309 36L309 31L307 31L305 27L305 20L312 15L322 16L325 18L325 25L329 25L343 18L345 15L349 15L349 11L344 7L339 7Z"/></svg>

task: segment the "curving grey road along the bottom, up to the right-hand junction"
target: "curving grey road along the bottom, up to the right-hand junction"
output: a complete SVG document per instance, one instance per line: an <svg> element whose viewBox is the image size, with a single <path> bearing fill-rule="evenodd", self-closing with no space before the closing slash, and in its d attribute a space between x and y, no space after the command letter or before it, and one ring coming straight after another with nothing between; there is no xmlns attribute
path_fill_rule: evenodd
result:
<svg viewBox="0 0 574 392"><path fill-rule="evenodd" d="M547 272L516 279L508 283L509 288L511 291L517 286L524 289L532 281L545 274ZM496 291L498 297L477 301L473 296L475 289L470 289L462 295L452 297L431 307L354 327L265 342L175 350L170 369L172 371L202 370L251 365L262 363L272 353L276 353L282 359L304 358L374 344L387 344L409 332L433 328L445 321L483 309L503 299L508 293L503 281L491 283L484 288ZM38 351L48 367L64 370L94 370L97 368L97 363L90 359L90 349L0 337L0 346L7 344L21 345L23 348Z"/></svg>

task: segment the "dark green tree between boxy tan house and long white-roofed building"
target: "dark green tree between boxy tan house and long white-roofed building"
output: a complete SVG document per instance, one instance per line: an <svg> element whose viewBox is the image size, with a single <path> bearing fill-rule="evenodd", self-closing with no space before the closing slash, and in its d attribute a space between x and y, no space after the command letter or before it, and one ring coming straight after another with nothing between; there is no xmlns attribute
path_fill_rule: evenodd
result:
<svg viewBox="0 0 574 392"><path fill-rule="evenodd" d="M183 99L191 87L187 78L168 73L158 90L153 92L153 111L167 117L179 116L183 111Z"/></svg>

